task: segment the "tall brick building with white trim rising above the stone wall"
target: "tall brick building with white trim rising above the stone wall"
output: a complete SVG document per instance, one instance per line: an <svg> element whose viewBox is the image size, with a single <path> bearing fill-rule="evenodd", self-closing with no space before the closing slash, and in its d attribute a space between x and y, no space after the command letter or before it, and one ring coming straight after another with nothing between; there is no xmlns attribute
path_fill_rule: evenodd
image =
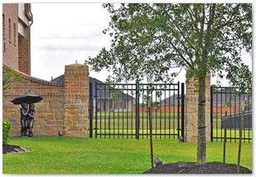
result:
<svg viewBox="0 0 256 177"><path fill-rule="evenodd" d="M30 75L30 25L33 15L29 3L2 4L2 61Z"/></svg>

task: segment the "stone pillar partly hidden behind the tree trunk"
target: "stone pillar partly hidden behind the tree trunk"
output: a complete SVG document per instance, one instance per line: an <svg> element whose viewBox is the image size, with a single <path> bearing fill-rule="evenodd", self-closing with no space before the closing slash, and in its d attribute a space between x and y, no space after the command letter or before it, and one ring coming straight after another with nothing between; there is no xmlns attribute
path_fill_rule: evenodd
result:
<svg viewBox="0 0 256 177"><path fill-rule="evenodd" d="M189 84L186 85L186 116L185 116L185 140L191 143L198 142L198 93L195 93L193 78L189 79ZM205 105L205 119L206 119L206 140L211 141L211 74L207 74L206 78L206 105Z"/></svg>

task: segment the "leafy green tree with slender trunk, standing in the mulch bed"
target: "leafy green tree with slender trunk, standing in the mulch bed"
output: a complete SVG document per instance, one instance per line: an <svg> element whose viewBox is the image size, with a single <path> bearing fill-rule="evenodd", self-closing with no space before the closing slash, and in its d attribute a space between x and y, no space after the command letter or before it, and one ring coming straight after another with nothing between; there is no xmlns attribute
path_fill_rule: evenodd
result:
<svg viewBox="0 0 256 177"><path fill-rule="evenodd" d="M172 82L174 67L198 81L198 164L206 161L205 80L208 72L250 91L252 74L241 51L252 48L252 4L104 4L111 21L103 31L111 47L87 64L112 70L112 82ZM249 88L249 89L247 89Z"/></svg>

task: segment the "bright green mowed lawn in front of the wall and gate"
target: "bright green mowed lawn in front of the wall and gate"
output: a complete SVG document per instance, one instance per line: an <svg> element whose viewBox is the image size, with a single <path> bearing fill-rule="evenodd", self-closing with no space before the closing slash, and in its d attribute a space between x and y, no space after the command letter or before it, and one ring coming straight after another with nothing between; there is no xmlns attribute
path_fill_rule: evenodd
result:
<svg viewBox="0 0 256 177"><path fill-rule="evenodd" d="M11 138L30 149L2 155L4 174L141 174L151 168L149 139ZM153 139L154 157L164 163L196 161L197 144ZM223 143L207 143L207 161L222 161ZM226 144L226 162L237 163L238 143ZM252 143L242 144L241 166L252 170Z"/></svg>

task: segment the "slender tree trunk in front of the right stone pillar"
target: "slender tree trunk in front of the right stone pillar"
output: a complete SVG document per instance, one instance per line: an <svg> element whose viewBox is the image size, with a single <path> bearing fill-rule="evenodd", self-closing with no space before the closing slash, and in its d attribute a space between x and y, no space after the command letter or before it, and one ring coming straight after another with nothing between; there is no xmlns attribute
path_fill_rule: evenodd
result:
<svg viewBox="0 0 256 177"><path fill-rule="evenodd" d="M206 161L205 81L206 75L198 77L198 165Z"/></svg>

